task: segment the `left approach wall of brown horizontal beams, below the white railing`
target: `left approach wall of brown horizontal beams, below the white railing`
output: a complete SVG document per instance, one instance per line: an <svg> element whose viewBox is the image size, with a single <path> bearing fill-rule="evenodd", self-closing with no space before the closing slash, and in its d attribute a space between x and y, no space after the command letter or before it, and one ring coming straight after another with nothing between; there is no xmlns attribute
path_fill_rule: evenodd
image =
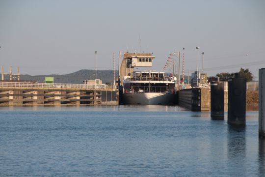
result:
<svg viewBox="0 0 265 177"><path fill-rule="evenodd" d="M117 105L117 94L114 90L0 88L0 105Z"/></svg>

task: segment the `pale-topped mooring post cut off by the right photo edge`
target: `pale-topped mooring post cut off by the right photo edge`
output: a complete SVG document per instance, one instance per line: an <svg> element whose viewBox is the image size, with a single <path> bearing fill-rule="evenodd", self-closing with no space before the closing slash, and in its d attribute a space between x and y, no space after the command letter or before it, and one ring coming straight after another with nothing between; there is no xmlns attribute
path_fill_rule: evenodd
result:
<svg viewBox="0 0 265 177"><path fill-rule="evenodd" d="M265 138L265 68L259 69L259 137Z"/></svg>

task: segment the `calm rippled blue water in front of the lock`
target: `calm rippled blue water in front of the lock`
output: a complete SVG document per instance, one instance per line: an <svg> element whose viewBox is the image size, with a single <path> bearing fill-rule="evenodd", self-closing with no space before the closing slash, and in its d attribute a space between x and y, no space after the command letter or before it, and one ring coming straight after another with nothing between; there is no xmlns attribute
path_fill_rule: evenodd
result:
<svg viewBox="0 0 265 177"><path fill-rule="evenodd" d="M246 127L178 106L0 107L0 176L265 176Z"/></svg>

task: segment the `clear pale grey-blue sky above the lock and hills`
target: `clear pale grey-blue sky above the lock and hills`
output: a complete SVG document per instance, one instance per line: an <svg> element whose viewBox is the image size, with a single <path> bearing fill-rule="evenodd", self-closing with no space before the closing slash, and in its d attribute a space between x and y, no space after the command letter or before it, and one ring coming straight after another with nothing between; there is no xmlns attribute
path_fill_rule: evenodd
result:
<svg viewBox="0 0 265 177"><path fill-rule="evenodd" d="M141 48L139 47L141 46ZM199 47L198 53L196 47ZM265 68L264 0L0 0L0 65L21 74L118 69L118 51L185 48L185 75ZM198 54L198 62L197 62ZM178 60L178 59L177 59ZM150 68L145 68L150 69Z"/></svg>

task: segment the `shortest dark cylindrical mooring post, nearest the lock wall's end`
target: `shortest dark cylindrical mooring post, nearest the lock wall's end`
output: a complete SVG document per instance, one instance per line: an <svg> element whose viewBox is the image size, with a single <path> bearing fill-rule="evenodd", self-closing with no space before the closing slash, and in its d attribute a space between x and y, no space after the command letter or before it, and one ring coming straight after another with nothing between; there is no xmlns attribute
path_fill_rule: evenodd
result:
<svg viewBox="0 0 265 177"><path fill-rule="evenodd" d="M211 83L211 118L224 119L224 84L223 82Z"/></svg>

